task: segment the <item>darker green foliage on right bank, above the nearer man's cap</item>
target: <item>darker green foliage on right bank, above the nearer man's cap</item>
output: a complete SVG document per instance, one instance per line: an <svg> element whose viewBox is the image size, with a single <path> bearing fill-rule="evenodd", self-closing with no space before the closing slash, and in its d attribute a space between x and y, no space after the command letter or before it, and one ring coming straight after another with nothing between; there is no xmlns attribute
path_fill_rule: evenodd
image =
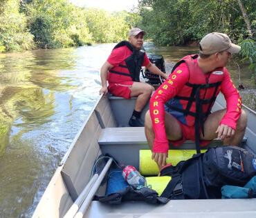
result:
<svg viewBox="0 0 256 218"><path fill-rule="evenodd" d="M141 26L160 45L198 41L208 32L225 32L233 41L250 37L237 0L140 0ZM243 3L256 30L255 0Z"/></svg>

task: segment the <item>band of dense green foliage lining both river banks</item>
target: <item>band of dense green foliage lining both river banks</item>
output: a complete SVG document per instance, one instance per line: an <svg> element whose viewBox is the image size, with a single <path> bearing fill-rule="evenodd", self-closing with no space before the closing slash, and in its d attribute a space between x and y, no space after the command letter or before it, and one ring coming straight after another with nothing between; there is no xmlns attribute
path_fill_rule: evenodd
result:
<svg viewBox="0 0 256 218"><path fill-rule="evenodd" d="M163 46L196 43L215 31L241 43L242 56L256 69L255 0L138 2L137 12L109 13L67 0L1 0L0 52L117 42L127 38L131 26L145 29L147 39Z"/></svg>

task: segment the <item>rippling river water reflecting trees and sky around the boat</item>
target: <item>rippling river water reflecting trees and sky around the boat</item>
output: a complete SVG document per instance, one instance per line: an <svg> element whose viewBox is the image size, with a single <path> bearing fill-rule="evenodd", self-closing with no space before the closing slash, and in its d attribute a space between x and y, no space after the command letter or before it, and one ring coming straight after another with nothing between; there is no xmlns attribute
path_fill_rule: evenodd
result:
<svg viewBox="0 0 256 218"><path fill-rule="evenodd" d="M0 217L31 217L57 165L98 99L100 67L113 44L0 54ZM196 48L156 48L167 72ZM255 110L250 71L228 66Z"/></svg>

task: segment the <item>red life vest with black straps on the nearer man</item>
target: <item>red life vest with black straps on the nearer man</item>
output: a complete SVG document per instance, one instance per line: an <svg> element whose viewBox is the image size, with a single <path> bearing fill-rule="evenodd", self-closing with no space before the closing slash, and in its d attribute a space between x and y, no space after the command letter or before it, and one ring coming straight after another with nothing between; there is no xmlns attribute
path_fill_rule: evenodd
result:
<svg viewBox="0 0 256 218"><path fill-rule="evenodd" d="M201 68L199 68L197 63L194 63L194 59L198 56L198 54L185 56L176 63L174 68L172 68L172 72L174 72L181 63L186 63L190 70L190 81L185 83L183 90L181 90L179 95L176 95L173 98L181 101L181 105L185 109L172 105L172 99L165 105L171 110L182 112L187 121L187 125L194 126L196 135L196 152L200 153L200 132L202 131L204 135L203 123L210 114L214 101L219 94L219 86L223 79L223 68L214 70L214 72L222 72L222 75L210 73L209 77L205 78ZM170 79L172 79L172 76L170 76Z"/></svg>

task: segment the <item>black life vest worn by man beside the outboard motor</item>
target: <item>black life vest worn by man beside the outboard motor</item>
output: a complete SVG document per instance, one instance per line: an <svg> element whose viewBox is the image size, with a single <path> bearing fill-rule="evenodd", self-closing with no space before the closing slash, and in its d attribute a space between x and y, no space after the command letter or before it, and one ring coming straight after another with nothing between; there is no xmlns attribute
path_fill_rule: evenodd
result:
<svg viewBox="0 0 256 218"><path fill-rule="evenodd" d="M144 50L137 50L134 48L134 46L129 43L129 41L120 41L114 48L120 48L122 46L127 46L129 50L131 50L131 55L125 59L125 65L119 64L118 69L111 69L109 72L116 73L118 75L123 75L127 77L131 77L133 81L140 81L140 70L143 65L144 57L145 57L145 51ZM127 73L127 70L122 70L123 68L128 69L129 73Z"/></svg>

